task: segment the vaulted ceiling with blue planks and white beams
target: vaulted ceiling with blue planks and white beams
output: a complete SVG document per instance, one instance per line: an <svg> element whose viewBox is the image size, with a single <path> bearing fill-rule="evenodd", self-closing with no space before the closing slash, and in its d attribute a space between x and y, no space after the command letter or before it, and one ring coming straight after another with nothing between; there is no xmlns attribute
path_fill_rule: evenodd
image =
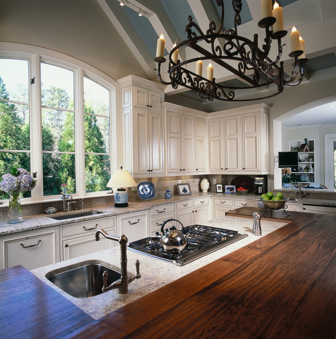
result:
<svg viewBox="0 0 336 339"><path fill-rule="evenodd" d="M209 28L210 21L214 21L217 27L220 23L221 8L216 4L216 0L124 0L124 6L120 6L120 0L97 1L111 22L118 27L120 35L137 57L149 79L154 81L157 80L157 77L153 70L156 67L153 58L156 54L157 39L161 33L166 40L165 55L167 55L175 41L179 43L186 40L184 29L188 23L188 16L193 17L193 20L204 33ZM224 0L223 2L223 31L225 31L234 26L234 10L232 0ZM303 82L336 77L335 0L278 0L277 2L283 7L284 29L290 32L294 24L305 40L306 56L310 60L305 65L306 71ZM261 19L260 0L243 0L242 3L241 25L238 27L238 33L251 40L257 33L259 45L261 45L265 32L257 25ZM141 10L142 16L138 15L139 10ZM284 70L286 75L289 76L293 70L294 61L288 56L290 34L287 34L282 41L286 46L284 46L281 60L284 61ZM273 43L273 52L271 52L273 56L277 53L276 47L277 45ZM179 48L180 60L196 58L197 56L198 53L190 47ZM161 69L167 68L167 64L167 62L162 64ZM217 82L225 85L243 84L241 79L218 65L214 65L214 76ZM248 76L251 77L252 75ZM167 77L165 79L168 80ZM236 90L235 96L236 98L256 96L262 92L274 90L276 90L275 85L268 85L252 90ZM174 96L180 96L199 104L209 103L207 100L200 99L197 93L181 88L181 86L177 89L168 86L165 94L166 98L171 96L171 99L173 99Z"/></svg>

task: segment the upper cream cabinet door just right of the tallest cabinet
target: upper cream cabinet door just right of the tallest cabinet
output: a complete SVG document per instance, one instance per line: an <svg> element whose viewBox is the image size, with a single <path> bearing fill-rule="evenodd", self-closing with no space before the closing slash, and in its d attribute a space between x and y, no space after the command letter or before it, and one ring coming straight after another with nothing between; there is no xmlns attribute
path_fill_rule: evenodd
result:
<svg viewBox="0 0 336 339"><path fill-rule="evenodd" d="M181 115L167 111L167 171L182 173L181 167Z"/></svg>

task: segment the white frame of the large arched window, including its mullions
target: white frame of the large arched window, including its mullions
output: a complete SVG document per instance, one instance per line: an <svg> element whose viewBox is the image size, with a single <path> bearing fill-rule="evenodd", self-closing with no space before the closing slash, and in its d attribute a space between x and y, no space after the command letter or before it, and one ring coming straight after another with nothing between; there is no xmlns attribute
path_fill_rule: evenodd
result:
<svg viewBox="0 0 336 339"><path fill-rule="evenodd" d="M18 45L18 44L13 44ZM23 45L22 45L23 46ZM37 172L37 184L32 190L31 198L21 199L22 204L49 202L59 200L60 195L43 196L43 167L42 167L42 119L41 119L41 68L40 63L48 63L63 67L74 72L74 103L75 103L75 164L76 164L76 193L73 197L97 197L105 196L106 191L85 192L85 154L84 154L84 92L83 77L86 76L110 91L110 164L111 173L117 169L117 105L120 106L119 84L106 76L98 69L87 65L80 60L66 56L62 53L50 51L44 48L29 46L29 49L43 50L51 55L33 53L31 51L15 51L0 49L0 58L28 60L29 79L35 77L32 85L29 81L29 128L30 128L30 155L31 173ZM71 59L71 61L68 61ZM7 200L0 200L3 205L8 205Z"/></svg>

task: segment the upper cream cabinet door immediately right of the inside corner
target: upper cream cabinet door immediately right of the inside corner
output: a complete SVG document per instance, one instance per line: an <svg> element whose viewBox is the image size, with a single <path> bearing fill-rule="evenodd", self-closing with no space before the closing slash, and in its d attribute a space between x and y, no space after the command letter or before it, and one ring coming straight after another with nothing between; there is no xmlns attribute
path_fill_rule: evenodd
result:
<svg viewBox="0 0 336 339"><path fill-rule="evenodd" d="M223 118L209 120L210 172L222 172L224 169Z"/></svg>

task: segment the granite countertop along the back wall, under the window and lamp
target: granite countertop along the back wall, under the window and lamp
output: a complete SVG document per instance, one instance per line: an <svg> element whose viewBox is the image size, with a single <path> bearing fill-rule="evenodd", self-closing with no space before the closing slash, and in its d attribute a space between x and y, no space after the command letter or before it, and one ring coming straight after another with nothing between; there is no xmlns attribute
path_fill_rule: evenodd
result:
<svg viewBox="0 0 336 339"><path fill-rule="evenodd" d="M172 196L172 199L154 198L151 200L130 201L129 207L124 207L124 208L114 207L113 204L98 206L94 208L87 208L85 209L86 212L98 211L98 212L102 212L102 214L79 217L79 218L72 218L72 219L55 220L51 218L51 216L55 216L55 215L57 216L66 215L67 212L57 212L56 214L53 214L53 215L38 214L34 216L27 216L27 217L24 217L24 222L18 223L18 224L7 224L7 219L2 218L0 219L0 236L5 235L5 234L36 230L39 228L66 225L66 224L70 224L74 222L90 221L93 219L111 217L111 216L125 214L125 213L150 210L154 206L172 204L172 203L176 203L180 201L186 201L186 200L202 198L202 197L226 197L226 198L243 199L243 200L244 199L248 199L248 200L259 200L260 199L260 196L255 195L254 193L238 195L234 193L225 194L225 193L213 193L213 192L207 192L207 193L198 192L198 193L193 193L190 196L183 196L183 197L175 195L175 196ZM292 198L292 199L295 199L295 198ZM336 200L333 200L333 199L303 198L302 200L299 200L299 201L288 200L287 203L336 206ZM75 213L82 213L82 212L83 211L81 210L77 210L77 211L72 211L71 213L75 214Z"/></svg>

